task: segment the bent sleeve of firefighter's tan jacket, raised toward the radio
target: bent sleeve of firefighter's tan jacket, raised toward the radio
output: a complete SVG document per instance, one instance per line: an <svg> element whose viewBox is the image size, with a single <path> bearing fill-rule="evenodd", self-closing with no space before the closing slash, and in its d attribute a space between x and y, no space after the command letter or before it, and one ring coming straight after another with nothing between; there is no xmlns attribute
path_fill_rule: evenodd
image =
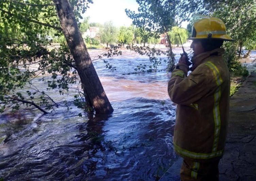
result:
<svg viewBox="0 0 256 181"><path fill-rule="evenodd" d="M212 70L199 65L187 77L185 64L177 64L168 82L168 94L176 104L189 105L217 88ZM188 66L187 66L188 67Z"/></svg>

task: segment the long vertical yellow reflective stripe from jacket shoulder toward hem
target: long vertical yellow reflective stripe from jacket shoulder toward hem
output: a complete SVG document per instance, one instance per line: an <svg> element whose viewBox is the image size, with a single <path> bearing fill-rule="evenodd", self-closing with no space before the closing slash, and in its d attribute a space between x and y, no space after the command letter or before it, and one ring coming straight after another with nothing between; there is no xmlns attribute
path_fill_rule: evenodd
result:
<svg viewBox="0 0 256 181"><path fill-rule="evenodd" d="M214 137L213 137L213 146L212 152L217 151L219 137L220 137L220 127L221 127L221 117L220 117L220 97L221 97L221 89L220 85L222 84L223 80L220 76L219 69L212 63L207 62L206 65L212 69L213 74L215 76L215 81L218 86L217 90L214 93L214 105L213 105L213 118L214 118Z"/></svg>

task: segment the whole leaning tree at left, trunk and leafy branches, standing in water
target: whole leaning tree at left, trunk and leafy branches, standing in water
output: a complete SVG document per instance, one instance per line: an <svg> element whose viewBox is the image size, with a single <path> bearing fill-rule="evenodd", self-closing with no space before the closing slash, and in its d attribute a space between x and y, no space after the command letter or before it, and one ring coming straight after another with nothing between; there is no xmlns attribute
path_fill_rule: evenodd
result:
<svg viewBox="0 0 256 181"><path fill-rule="evenodd" d="M59 89L61 95L70 90L70 85L77 89L74 103L80 108L91 108L96 113L113 111L77 23L89 3L92 1L1 0L1 112L6 108L17 110L21 104L37 108L43 105L46 109L57 106L48 92L33 85L33 79L38 76L47 82L47 90ZM60 48L49 48L52 31L55 37L65 36L66 43ZM46 75L50 79L46 80ZM74 88L77 82L82 92Z"/></svg>

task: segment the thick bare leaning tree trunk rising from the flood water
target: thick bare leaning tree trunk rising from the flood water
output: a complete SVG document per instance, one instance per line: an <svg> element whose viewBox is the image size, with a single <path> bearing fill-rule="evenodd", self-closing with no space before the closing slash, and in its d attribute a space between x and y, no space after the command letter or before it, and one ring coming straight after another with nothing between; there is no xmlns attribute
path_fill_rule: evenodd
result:
<svg viewBox="0 0 256 181"><path fill-rule="evenodd" d="M86 49L69 1L53 0L53 2L56 4L62 31L76 63L87 105L93 107L96 113L112 113L113 108Z"/></svg>

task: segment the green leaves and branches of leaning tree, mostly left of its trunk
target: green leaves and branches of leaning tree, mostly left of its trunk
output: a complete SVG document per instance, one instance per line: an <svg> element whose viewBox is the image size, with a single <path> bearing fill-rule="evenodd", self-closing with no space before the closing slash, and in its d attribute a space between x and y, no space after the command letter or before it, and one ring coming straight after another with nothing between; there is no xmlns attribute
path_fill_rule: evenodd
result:
<svg viewBox="0 0 256 181"><path fill-rule="evenodd" d="M69 2L77 20L92 3L91 0ZM85 95L66 42L60 42L60 48L56 48L49 40L49 35L53 40L64 37L54 1L1 0L0 14L0 112L18 110L22 104L50 110L58 106L48 95L50 89L57 89L61 95L69 91L74 103L84 109ZM104 53L100 59L113 54L118 54L117 50ZM35 78L46 86L36 87Z"/></svg>

